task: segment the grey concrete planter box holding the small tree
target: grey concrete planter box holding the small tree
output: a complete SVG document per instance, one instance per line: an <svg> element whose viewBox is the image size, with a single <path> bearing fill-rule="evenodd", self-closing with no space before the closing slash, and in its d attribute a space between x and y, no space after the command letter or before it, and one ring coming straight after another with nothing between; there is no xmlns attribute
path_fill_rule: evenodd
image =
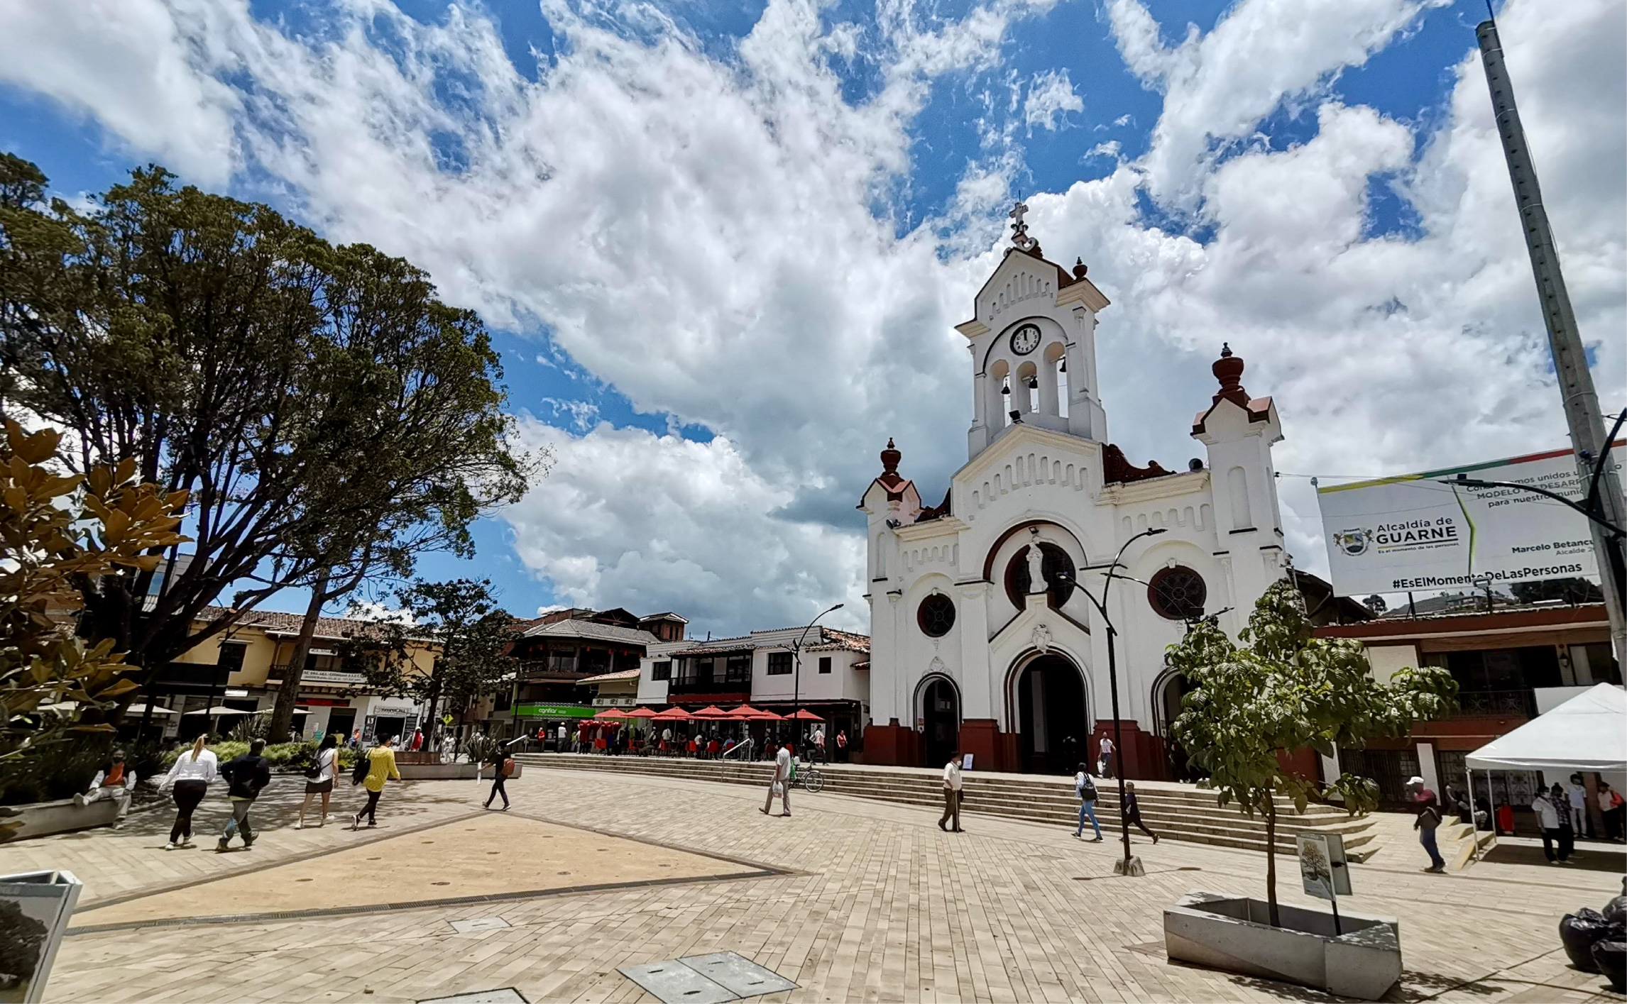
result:
<svg viewBox="0 0 1627 1004"><path fill-rule="evenodd" d="M1298 983L1341 997L1376 1001L1401 978L1401 928L1394 918L1302 906L1277 906L1280 928L1264 900L1189 892L1163 911L1163 947L1170 958Z"/></svg>

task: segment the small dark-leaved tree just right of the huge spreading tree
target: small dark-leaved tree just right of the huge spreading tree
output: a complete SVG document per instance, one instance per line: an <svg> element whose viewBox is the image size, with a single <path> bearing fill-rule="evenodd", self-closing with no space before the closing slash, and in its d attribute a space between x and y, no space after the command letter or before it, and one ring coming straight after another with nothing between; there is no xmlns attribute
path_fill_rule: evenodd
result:
<svg viewBox="0 0 1627 1004"><path fill-rule="evenodd" d="M514 618L498 605L490 581L413 583L397 600L413 623L377 618L347 641L345 657L373 687L425 701L426 721L443 706L464 711L519 669L509 654ZM434 653L430 672L412 659L423 646Z"/></svg>

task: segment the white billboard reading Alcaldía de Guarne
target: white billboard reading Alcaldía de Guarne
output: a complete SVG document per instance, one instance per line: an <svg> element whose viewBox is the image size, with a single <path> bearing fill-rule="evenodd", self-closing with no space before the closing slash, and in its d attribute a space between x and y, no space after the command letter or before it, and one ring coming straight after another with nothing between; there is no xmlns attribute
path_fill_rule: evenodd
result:
<svg viewBox="0 0 1627 1004"><path fill-rule="evenodd" d="M1494 586L1598 578L1585 516L1534 491L1442 483L1459 474L1570 500L1586 495L1568 449L1318 487L1334 591L1451 589L1482 586L1487 576Z"/></svg>

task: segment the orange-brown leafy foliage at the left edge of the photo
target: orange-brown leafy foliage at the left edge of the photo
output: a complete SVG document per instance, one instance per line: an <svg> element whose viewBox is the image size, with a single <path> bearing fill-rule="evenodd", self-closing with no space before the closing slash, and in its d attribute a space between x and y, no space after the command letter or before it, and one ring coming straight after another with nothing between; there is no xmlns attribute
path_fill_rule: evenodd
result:
<svg viewBox="0 0 1627 1004"><path fill-rule="evenodd" d="M80 718L135 683L111 638L73 635L73 579L151 568L153 548L185 540L176 532L184 491L132 483L133 461L62 475L60 443L52 430L26 434L15 421L0 441L0 762L75 732L112 731Z"/></svg>

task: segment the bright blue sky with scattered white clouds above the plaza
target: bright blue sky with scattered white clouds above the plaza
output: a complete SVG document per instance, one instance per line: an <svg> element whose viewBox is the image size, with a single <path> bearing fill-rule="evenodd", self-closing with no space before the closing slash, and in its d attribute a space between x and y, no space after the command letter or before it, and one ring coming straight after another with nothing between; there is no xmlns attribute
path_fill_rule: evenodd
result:
<svg viewBox="0 0 1627 1004"><path fill-rule="evenodd" d="M0 0L0 146L73 197L158 161L426 267L556 465L482 522L516 613L866 626L888 436L965 461L952 324L1014 195L1084 257L1111 439L1167 467L1222 342L1310 475L1565 444L1474 47L1481 0ZM1498 26L1606 408L1627 404L1627 0ZM291 607L296 604L275 604Z"/></svg>

